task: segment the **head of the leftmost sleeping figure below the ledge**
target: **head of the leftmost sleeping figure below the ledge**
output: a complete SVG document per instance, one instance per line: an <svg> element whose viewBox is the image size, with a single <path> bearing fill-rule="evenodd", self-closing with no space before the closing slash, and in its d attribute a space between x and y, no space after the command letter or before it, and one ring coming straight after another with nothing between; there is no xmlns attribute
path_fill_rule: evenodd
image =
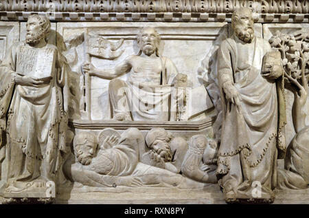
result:
<svg viewBox="0 0 309 218"><path fill-rule="evenodd" d="M78 162L83 165L89 165L95 155L97 146L98 140L93 133L78 133L73 141L74 154L76 155Z"/></svg>

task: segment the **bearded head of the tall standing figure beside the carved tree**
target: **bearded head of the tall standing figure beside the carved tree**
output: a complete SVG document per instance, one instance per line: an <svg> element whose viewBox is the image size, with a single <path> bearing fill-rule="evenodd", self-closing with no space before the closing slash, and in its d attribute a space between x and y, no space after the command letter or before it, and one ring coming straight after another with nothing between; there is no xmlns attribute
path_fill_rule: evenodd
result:
<svg viewBox="0 0 309 218"><path fill-rule="evenodd" d="M249 8L240 8L233 12L231 25L236 36L245 43L253 39L253 15Z"/></svg>

